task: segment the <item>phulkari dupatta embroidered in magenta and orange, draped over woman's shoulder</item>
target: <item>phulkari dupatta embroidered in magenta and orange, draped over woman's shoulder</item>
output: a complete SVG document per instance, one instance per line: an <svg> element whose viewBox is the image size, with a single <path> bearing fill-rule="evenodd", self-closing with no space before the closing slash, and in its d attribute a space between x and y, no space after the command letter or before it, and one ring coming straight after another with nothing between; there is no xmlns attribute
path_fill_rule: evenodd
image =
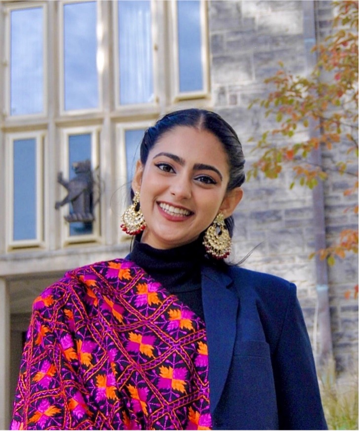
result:
<svg viewBox="0 0 360 432"><path fill-rule="evenodd" d="M205 323L131 261L36 298L11 429L211 429Z"/></svg>

